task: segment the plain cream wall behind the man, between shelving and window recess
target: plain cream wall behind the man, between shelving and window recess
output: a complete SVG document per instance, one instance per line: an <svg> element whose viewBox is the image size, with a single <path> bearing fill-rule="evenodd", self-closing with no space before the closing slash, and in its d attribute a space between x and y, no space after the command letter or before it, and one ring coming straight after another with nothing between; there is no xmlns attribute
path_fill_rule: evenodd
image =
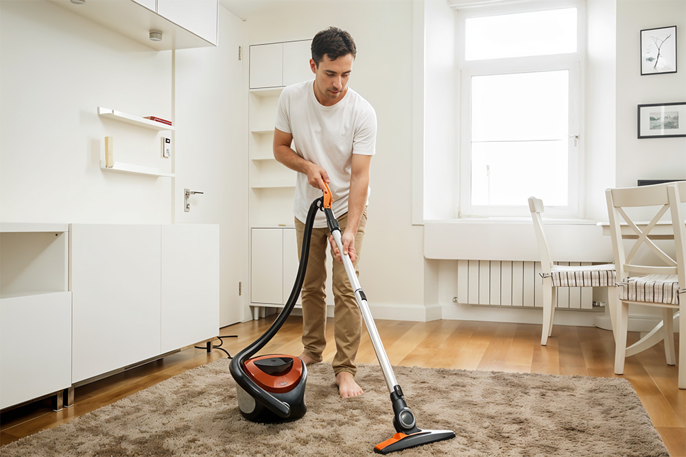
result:
<svg viewBox="0 0 686 457"><path fill-rule="evenodd" d="M414 317L424 312L423 227L412 225L410 205L412 10L411 0L303 1L274 3L246 21L249 45L309 39L330 25L355 39L349 86L374 106L378 120L359 280L375 316L387 319L387 306Z"/></svg>

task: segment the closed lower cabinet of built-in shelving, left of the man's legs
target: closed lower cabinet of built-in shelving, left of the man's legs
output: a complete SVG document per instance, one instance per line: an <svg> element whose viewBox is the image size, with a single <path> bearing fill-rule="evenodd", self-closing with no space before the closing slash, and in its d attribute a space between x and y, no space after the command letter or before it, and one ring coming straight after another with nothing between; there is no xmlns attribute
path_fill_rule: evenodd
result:
<svg viewBox="0 0 686 457"><path fill-rule="evenodd" d="M296 230L265 227L250 232L250 302L257 306L283 306L298 273ZM296 304L301 304L300 297Z"/></svg>

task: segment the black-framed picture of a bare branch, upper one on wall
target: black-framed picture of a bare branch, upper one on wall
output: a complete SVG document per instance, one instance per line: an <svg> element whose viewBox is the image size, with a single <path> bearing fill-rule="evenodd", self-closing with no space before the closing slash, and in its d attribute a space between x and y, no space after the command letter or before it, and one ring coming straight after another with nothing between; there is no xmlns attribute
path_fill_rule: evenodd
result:
<svg viewBox="0 0 686 457"><path fill-rule="evenodd" d="M641 75L676 73L676 25L641 30Z"/></svg>

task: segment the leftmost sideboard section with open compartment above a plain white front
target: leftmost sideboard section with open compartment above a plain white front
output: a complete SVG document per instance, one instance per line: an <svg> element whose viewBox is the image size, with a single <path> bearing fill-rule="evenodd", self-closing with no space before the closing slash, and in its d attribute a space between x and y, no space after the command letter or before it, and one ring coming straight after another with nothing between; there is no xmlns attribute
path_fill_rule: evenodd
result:
<svg viewBox="0 0 686 457"><path fill-rule="evenodd" d="M67 224L0 224L0 408L58 394L59 409L71 386L68 239Z"/></svg>

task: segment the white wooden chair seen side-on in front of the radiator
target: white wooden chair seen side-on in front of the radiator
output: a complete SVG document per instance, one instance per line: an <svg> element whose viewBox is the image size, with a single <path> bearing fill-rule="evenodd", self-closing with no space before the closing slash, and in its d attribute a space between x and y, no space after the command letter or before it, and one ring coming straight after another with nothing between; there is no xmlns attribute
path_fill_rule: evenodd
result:
<svg viewBox="0 0 686 457"><path fill-rule="evenodd" d="M615 301L611 289L615 288L615 265L580 265L567 266L553 264L545 232L543 232L543 201L529 197L529 210L534 221L534 232L539 244L541 256L541 277L543 278L543 331L541 346L545 346L548 336L552 334L558 287L607 287L610 319L615 316ZM614 328L614 321L612 322Z"/></svg>

